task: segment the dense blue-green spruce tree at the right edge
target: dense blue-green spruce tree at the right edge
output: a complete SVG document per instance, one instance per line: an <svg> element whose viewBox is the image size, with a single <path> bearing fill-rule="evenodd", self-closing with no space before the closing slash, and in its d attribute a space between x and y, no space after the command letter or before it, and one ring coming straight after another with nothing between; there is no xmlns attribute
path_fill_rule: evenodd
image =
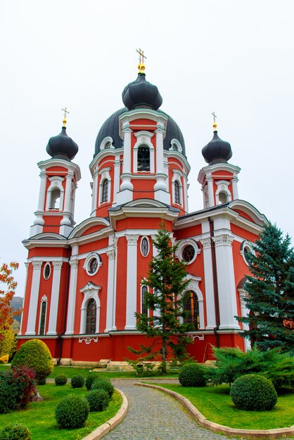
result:
<svg viewBox="0 0 294 440"><path fill-rule="evenodd" d="M247 316L238 321L249 330L241 335L262 350L280 347L294 349L294 251L290 237L283 237L276 225L267 224L246 254L250 276L246 276Z"/></svg>

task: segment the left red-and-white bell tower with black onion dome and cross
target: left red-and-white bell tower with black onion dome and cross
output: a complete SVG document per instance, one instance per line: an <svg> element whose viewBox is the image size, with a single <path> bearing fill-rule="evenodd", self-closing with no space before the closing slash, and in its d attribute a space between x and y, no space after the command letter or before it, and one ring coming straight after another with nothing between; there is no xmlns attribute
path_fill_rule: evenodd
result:
<svg viewBox="0 0 294 440"><path fill-rule="evenodd" d="M51 159L38 163L41 170L39 202L30 237L39 233L58 233L68 237L75 225L75 190L81 178L79 166L72 162L79 147L66 133L66 113L58 136L49 139L46 146Z"/></svg>

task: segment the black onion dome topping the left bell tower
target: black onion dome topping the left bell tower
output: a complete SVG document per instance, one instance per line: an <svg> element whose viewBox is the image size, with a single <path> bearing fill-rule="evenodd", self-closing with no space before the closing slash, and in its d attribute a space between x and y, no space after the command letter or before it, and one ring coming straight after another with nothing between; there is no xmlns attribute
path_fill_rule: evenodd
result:
<svg viewBox="0 0 294 440"><path fill-rule="evenodd" d="M58 136L50 138L46 146L46 152L53 159L72 160L78 151L77 143L66 134L66 127L62 128Z"/></svg>

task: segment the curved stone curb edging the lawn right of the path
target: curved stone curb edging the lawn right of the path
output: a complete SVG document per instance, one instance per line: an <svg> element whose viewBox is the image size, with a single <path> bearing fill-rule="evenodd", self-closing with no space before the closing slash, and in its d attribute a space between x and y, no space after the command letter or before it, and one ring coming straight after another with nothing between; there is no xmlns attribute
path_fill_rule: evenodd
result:
<svg viewBox="0 0 294 440"><path fill-rule="evenodd" d="M290 428L279 429L237 429L230 428L224 425L219 425L218 423L207 420L207 418L205 418L205 416L200 413L200 411L191 403L191 401L189 401L186 397L181 396L181 394L178 394L170 389L160 387L158 385L146 384L143 382L136 382L135 385L138 385L139 387L158 389L159 391L174 397L174 399L179 401L179 403L181 403L186 408L186 410L188 410L188 413L190 413L192 417L197 420L200 426L210 429L210 431L213 432L221 432L222 434L225 434L227 436L245 435L248 439L279 439L281 436L285 436L286 434L288 436L294 436L294 426Z"/></svg>

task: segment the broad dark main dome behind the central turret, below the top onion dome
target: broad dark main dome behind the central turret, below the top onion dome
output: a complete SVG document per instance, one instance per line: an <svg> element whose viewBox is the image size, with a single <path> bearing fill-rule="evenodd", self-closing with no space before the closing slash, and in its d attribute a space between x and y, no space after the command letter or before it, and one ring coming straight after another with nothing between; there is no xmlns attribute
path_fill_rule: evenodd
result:
<svg viewBox="0 0 294 440"><path fill-rule="evenodd" d="M108 117L106 119L106 122L103 123L101 129L98 132L98 136L96 138L95 143L95 153L94 157L99 153L101 142L106 137L113 138L113 147L114 148L122 148L123 141L119 134L120 129L120 123L119 118L122 113L127 112L127 108L120 108L120 110L117 110L117 112L114 112L113 115ZM167 115L165 112L162 112L162 110L158 110L158 112L162 113L163 115L166 115L168 117L167 119L167 131L165 134L165 138L163 139L163 148L164 150L170 150L172 139L177 139L179 143L181 144L182 151L181 153L186 156L186 150L185 150L185 141L184 136L181 134L181 130L179 128L179 125L177 122L172 119L169 115Z"/></svg>

